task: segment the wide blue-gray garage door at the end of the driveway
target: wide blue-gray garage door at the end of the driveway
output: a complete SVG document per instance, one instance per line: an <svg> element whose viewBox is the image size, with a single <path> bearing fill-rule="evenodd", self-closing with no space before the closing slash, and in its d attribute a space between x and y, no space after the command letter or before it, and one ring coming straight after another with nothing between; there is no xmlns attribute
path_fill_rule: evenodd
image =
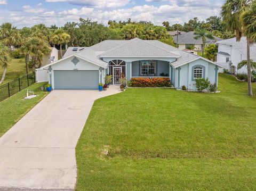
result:
<svg viewBox="0 0 256 191"><path fill-rule="evenodd" d="M98 70L55 70L55 89L97 89L99 84Z"/></svg>

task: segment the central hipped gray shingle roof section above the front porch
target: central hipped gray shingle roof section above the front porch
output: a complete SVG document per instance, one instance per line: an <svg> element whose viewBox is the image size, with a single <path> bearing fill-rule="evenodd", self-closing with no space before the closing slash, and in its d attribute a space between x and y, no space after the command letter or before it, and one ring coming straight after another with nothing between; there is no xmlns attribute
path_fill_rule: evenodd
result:
<svg viewBox="0 0 256 191"><path fill-rule="evenodd" d="M180 55L166 51L161 47L148 43L148 40L134 38L102 53L101 57L179 57Z"/></svg>

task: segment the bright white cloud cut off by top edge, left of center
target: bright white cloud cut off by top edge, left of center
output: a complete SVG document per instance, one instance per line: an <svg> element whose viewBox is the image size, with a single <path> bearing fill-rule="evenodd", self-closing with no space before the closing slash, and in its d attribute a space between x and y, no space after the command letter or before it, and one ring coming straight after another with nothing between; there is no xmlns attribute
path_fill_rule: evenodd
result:
<svg viewBox="0 0 256 191"><path fill-rule="evenodd" d="M46 0L46 2L69 2L71 4L76 5L83 5L83 6L89 6L89 7L95 7L95 8L114 8L114 7L121 7L125 6L130 3L130 0Z"/></svg>

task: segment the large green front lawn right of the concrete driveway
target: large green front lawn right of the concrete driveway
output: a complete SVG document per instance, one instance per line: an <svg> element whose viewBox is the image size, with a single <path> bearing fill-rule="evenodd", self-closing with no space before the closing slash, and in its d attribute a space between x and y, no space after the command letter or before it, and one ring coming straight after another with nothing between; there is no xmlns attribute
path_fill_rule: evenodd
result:
<svg viewBox="0 0 256 191"><path fill-rule="evenodd" d="M98 99L76 147L76 190L256 190L246 85L220 74L220 94L130 88Z"/></svg>

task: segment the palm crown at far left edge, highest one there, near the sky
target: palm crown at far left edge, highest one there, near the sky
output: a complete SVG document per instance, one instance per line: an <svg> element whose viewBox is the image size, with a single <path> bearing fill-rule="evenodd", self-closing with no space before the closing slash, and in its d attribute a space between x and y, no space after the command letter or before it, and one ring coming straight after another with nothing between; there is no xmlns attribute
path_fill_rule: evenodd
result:
<svg viewBox="0 0 256 191"><path fill-rule="evenodd" d="M4 23L0 26L0 40L1 42L12 50L12 47L19 45L20 34L16 27L13 27L11 23Z"/></svg>

